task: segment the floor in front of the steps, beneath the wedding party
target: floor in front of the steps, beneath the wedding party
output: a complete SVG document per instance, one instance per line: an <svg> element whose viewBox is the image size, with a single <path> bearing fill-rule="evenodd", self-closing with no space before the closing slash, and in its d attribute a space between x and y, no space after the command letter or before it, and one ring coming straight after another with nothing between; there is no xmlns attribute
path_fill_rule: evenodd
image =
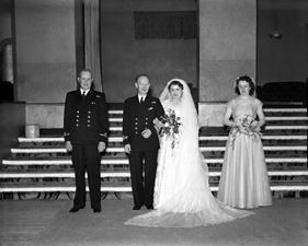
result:
<svg viewBox="0 0 308 246"><path fill-rule="evenodd" d="M274 199L254 215L193 229L151 229L124 225L145 208L133 211L132 200L102 201L102 212L89 203L69 213L69 200L0 201L0 245L107 246L304 246L308 245L308 199Z"/></svg>

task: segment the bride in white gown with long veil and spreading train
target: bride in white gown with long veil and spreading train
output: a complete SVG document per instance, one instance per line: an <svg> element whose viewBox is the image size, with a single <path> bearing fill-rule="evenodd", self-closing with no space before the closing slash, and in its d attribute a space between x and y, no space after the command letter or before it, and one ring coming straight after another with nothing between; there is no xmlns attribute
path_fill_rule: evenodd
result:
<svg viewBox="0 0 308 246"><path fill-rule="evenodd" d="M155 210L125 224L194 227L253 214L225 206L212 195L207 165L198 149L197 113L185 81L173 79L168 82L160 101L167 120L158 156ZM175 121L170 125L172 119ZM174 127L173 131L170 126Z"/></svg>

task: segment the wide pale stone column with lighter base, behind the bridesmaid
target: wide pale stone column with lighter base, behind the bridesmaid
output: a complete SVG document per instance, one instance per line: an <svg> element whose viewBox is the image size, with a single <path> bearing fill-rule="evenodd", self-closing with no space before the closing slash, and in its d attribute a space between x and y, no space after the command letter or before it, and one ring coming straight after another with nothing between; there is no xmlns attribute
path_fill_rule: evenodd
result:
<svg viewBox="0 0 308 246"><path fill-rule="evenodd" d="M199 119L223 126L240 75L255 78L256 0L198 0Z"/></svg>

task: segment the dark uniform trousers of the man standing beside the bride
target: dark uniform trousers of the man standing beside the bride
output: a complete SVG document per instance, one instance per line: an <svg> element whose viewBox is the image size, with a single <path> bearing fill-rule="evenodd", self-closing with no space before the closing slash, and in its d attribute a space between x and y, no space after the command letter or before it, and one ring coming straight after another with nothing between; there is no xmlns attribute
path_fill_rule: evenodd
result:
<svg viewBox="0 0 308 246"><path fill-rule="evenodd" d="M158 150L130 152L129 168L134 206L152 206ZM145 160L145 181L142 178Z"/></svg>

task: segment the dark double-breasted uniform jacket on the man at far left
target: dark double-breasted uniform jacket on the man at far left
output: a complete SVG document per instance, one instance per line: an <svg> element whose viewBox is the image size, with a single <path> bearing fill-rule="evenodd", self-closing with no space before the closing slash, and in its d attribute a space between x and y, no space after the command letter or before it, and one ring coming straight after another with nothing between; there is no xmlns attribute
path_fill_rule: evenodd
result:
<svg viewBox="0 0 308 246"><path fill-rule="evenodd" d="M83 99L80 90L67 93L64 125L66 142L106 143L109 120L105 94L90 90Z"/></svg>

